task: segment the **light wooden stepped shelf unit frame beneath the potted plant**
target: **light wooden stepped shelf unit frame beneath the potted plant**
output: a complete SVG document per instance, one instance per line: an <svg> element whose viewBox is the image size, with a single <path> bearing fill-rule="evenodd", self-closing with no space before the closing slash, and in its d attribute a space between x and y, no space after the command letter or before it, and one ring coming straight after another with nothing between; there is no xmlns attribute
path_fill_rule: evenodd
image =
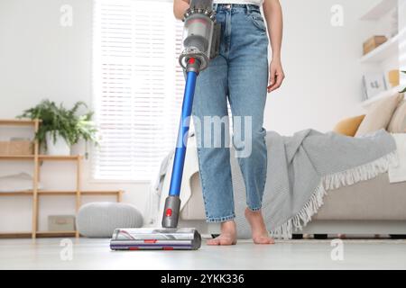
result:
<svg viewBox="0 0 406 288"><path fill-rule="evenodd" d="M32 126L34 133L40 127L40 120L1 120L0 126ZM39 199L40 196L75 196L76 212L81 206L82 196L106 196L113 195L117 202L122 201L123 191L82 191L81 188L81 169L82 157L79 155L74 156L52 156L39 154L39 144L37 140L33 141L33 155L0 155L0 160L5 161L32 161L32 191L19 191L19 192L5 192L0 193L2 196L31 196L32 197L32 230L30 232L0 232L0 238L37 238L37 237L79 237L78 230L75 231L40 231L38 230L38 216L39 216ZM38 184L40 182L41 163L44 161L71 161L76 164L76 188L74 191L46 191L39 190Z"/></svg>

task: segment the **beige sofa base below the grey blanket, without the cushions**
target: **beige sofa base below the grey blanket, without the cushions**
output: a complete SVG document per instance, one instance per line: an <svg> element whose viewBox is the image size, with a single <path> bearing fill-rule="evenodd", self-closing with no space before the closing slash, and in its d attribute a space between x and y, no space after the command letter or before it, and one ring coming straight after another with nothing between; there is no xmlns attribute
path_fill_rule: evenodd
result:
<svg viewBox="0 0 406 288"><path fill-rule="evenodd" d="M205 211L198 174L190 179L191 197L181 220L204 221ZM218 224L207 232L218 234ZM186 225L188 226L188 225ZM204 229L204 228L203 228ZM388 174L330 191L313 220L298 234L406 234L406 182L389 184Z"/></svg>

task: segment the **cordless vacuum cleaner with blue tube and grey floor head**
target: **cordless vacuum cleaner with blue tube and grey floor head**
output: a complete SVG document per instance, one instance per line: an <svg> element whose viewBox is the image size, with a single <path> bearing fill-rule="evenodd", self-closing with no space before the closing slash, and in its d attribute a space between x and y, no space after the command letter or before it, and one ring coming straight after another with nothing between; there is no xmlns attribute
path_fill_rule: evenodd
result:
<svg viewBox="0 0 406 288"><path fill-rule="evenodd" d="M173 160L171 186L166 198L160 229L115 229L110 241L113 250L197 250L201 237L197 229L177 228L180 214L180 185L189 134L198 73L208 67L208 61L218 55L220 26L216 23L213 0L191 0L184 14L183 46L180 66L186 72L180 127Z"/></svg>

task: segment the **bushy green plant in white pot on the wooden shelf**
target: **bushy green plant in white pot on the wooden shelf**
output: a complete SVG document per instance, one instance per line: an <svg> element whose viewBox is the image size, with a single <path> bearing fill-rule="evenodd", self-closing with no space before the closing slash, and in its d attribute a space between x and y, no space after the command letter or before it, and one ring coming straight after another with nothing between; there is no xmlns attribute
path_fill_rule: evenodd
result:
<svg viewBox="0 0 406 288"><path fill-rule="evenodd" d="M42 100L36 106L27 109L17 118L41 120L35 139L48 155L70 155L72 145L80 139L97 144L97 128L93 123L93 112L79 114L80 107L87 108L86 103L75 103L67 109L62 103L57 105L50 100Z"/></svg>

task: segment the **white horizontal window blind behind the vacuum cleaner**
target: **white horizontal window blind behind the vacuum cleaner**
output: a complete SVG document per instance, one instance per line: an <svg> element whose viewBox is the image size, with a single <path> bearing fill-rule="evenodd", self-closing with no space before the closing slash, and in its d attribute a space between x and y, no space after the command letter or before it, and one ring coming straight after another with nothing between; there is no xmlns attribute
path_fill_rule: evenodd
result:
<svg viewBox="0 0 406 288"><path fill-rule="evenodd" d="M182 23L171 1L96 0L93 28L93 177L149 180L175 145Z"/></svg>

